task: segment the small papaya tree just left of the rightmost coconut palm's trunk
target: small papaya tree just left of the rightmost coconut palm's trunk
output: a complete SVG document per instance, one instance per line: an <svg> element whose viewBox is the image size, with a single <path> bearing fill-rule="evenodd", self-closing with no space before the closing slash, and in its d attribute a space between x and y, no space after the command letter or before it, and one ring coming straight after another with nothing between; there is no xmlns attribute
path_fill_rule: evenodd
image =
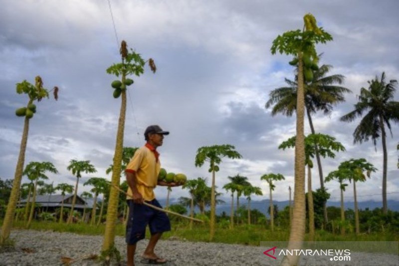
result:
<svg viewBox="0 0 399 266"><path fill-rule="evenodd" d="M338 169L347 170L347 179L353 182L353 197L354 197L354 210L355 210L355 229L356 234L360 234L359 227L359 210L358 210L358 200L356 193L356 182L365 182L366 177L370 178L371 172L376 172L376 168L364 158L360 159L350 159L348 161L342 162ZM366 173L366 174L365 174Z"/></svg>

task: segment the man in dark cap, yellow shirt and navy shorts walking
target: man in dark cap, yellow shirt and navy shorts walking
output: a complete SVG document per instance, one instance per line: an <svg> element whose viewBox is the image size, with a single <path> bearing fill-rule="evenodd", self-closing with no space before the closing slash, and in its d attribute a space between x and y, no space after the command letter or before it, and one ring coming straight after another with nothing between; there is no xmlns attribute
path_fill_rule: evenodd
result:
<svg viewBox="0 0 399 266"><path fill-rule="evenodd" d="M159 258L154 249L162 233L171 230L169 218L165 213L143 204L145 201L162 208L155 198L154 188L157 185L178 186L176 183L158 181L161 163L157 148L162 146L165 135L169 135L169 132L163 131L158 125L147 127L144 132L147 143L135 152L125 170L129 185L128 194L133 196L133 198L127 197L129 206L129 218L126 226L128 266L134 265L136 244L145 238L147 225L150 229L151 238L142 255L142 263L165 264L167 262L165 259Z"/></svg>

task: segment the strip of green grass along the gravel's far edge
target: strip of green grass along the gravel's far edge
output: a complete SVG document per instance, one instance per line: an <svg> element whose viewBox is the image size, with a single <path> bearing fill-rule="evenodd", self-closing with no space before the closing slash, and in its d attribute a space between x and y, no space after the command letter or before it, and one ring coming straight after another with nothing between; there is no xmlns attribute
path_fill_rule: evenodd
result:
<svg viewBox="0 0 399 266"><path fill-rule="evenodd" d="M25 229L23 222L14 223L14 229ZM30 229L39 231L55 231L69 232L80 235L103 235L105 225L89 226L87 224L71 224L66 225L54 222L37 222L31 223ZM125 227L122 224L116 226L116 235L124 236ZM147 232L149 237L149 232ZM209 230L206 226L195 225L193 230L188 228L187 224L172 223L172 231L166 232L163 239L180 239L193 242L208 242ZM305 241L307 241L305 235ZM234 229L216 228L214 240L215 243L241 244L250 246L259 246L262 241L287 241L289 238L289 230L283 228L275 228L274 232L255 225L239 225ZM316 241L399 241L399 232L360 234L348 233L345 236L334 235L327 231L317 230Z"/></svg>

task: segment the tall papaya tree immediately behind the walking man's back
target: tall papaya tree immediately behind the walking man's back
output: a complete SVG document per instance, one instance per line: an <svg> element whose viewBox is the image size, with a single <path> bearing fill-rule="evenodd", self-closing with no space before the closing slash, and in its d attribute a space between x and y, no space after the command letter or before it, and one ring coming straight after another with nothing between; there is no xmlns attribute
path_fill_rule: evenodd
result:
<svg viewBox="0 0 399 266"><path fill-rule="evenodd" d="M133 49L128 50L126 41L121 42L120 48L121 62L113 64L107 68L108 74L114 74L121 77L121 80L115 80L111 86L114 88L114 98L121 97L121 109L118 120L118 130L116 134L115 152L113 157L113 170L112 170L112 186L110 187L110 195L107 208L107 218L104 232L104 240L102 245L102 254L111 255L112 250L115 250L115 225L119 205L119 191L115 187L119 187L120 174L123 159L123 136L125 130L125 117L126 117L126 90L127 87L134 83L133 79L128 78L129 75L140 76L144 73L144 66L148 62L151 70L155 73L157 70L154 60L150 58L145 61L139 53Z"/></svg>

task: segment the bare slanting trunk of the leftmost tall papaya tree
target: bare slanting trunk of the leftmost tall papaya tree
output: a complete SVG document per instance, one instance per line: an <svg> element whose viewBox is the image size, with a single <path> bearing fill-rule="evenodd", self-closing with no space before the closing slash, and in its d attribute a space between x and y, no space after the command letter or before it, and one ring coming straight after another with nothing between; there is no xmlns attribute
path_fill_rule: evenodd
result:
<svg viewBox="0 0 399 266"><path fill-rule="evenodd" d="M28 104L31 104L32 100L29 100ZM4 244L8 240L9 234L11 233L12 220L14 219L16 202L18 200L19 188L21 186L23 165L25 163L25 150L28 141L29 132L29 119L25 116L23 124L21 145L19 148L18 162L15 167L14 181L12 182L11 194L9 196L7 210L5 212L4 221L1 226L0 245Z"/></svg>

